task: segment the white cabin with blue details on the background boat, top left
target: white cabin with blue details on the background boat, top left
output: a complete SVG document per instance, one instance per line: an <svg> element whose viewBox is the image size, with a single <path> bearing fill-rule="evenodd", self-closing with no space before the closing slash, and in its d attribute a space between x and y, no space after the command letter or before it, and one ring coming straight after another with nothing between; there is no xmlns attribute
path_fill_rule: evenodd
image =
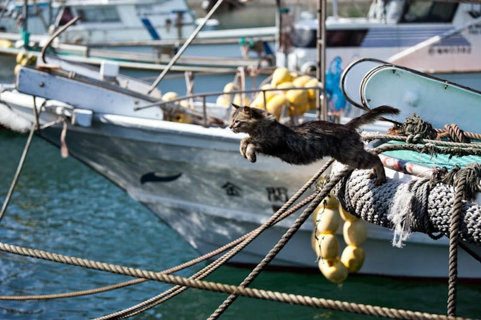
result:
<svg viewBox="0 0 481 320"><path fill-rule="evenodd" d="M24 1L12 2L7 15L18 19ZM192 33L194 18L185 0L33 1L27 5L27 28L46 34L74 17L79 21L62 34L62 42L94 43L127 39L179 39ZM5 27L5 29L7 29Z"/></svg>

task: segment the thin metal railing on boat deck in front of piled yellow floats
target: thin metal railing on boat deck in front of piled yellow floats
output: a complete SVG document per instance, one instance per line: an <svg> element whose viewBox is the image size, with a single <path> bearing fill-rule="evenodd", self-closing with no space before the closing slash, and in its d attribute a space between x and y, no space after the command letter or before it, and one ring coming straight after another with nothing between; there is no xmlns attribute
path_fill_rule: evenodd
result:
<svg viewBox="0 0 481 320"><path fill-rule="evenodd" d="M196 94L186 95L186 96L183 96L183 97L174 98L174 99L171 99L169 101L157 101L157 102L150 103L150 104L147 104L147 105L135 107L134 111L139 111L139 110L152 108L152 107L160 107L162 110L168 111L168 112L172 112L174 110L182 110L182 111L185 111L186 113L191 114L193 116L203 118L204 127L209 126L208 122L207 122L207 120L209 118L213 119L214 122L217 123L217 124L219 122L221 122L224 125L227 125L228 124L227 120L228 120L228 117L230 115L230 110L232 108L232 103L234 101L234 97L235 97L236 94L240 94L240 95L244 96L245 94L248 94L248 93L257 93L257 94L262 93L263 109L267 109L267 99L266 99L266 92L267 91L288 91L288 90L316 90L316 91L319 92L319 94L324 93L324 88L322 86L309 86L309 87L295 87L295 86L292 86L292 87L286 87L286 88L266 88L266 89L260 89L259 88L259 89L246 89L246 90L231 90L231 91L228 91L228 92L224 92L224 91L203 92L203 93L196 93ZM230 104L228 106L226 106L225 117L223 119L208 117L207 116L206 98L212 97L212 96L220 96L220 95L224 95L224 94L230 95ZM180 101L192 101L192 100L202 101L202 114L200 114L199 112L197 112L197 111L195 111L191 108L183 107L179 104ZM245 101L245 100L241 99L241 101ZM190 105L190 107L192 107L192 105Z"/></svg>

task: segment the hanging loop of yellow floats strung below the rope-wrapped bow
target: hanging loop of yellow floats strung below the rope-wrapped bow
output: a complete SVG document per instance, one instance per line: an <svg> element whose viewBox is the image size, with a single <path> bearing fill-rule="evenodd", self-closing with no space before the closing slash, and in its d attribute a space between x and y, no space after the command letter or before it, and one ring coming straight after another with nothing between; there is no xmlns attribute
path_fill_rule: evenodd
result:
<svg viewBox="0 0 481 320"><path fill-rule="evenodd" d="M367 236L363 221L343 209L334 196L327 197L312 213L315 229L312 232L312 249L319 259L319 269L326 279L342 283L349 272L357 272L364 262L360 247ZM339 257L340 245L336 236L341 220L346 247Z"/></svg>

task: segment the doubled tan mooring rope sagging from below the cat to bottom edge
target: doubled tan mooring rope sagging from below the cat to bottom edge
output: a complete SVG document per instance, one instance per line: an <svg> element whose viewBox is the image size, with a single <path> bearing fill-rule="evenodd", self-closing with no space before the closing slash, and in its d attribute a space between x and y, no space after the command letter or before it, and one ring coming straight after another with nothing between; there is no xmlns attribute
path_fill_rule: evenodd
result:
<svg viewBox="0 0 481 320"><path fill-rule="evenodd" d="M211 263L209 266L206 266L202 270L198 271L196 274L191 276L191 278L194 279L202 279L206 277L208 274L212 273L215 269L219 268L221 265L223 265L225 262L227 262L232 256L235 254L239 253L240 250L242 250L245 246L247 246L250 242L252 242L260 233L262 233L265 229L267 229L269 226L272 224L276 223L277 221L284 219L285 217L291 215L293 212L297 211L307 203L309 203L312 199L315 198L316 194L318 192L315 192L313 195L309 196L308 198L304 199L302 202L298 203L294 207L292 207L289 211L285 212L288 207L292 205L314 182L316 182L319 177L329 168L329 166L334 162L333 159L329 159L324 166L319 169L319 171L314 174L308 182L306 182L286 203L282 205L279 210L275 212L275 214L268 219L266 222L264 222L260 227L257 229L253 230L250 234L248 234L247 239L242 241L236 248L232 249L230 252L224 254L222 257L218 258L216 261ZM172 298L173 296L181 293L184 291L187 287L181 288L181 287L174 287L169 290L167 290L164 293L161 293L160 295L157 295L151 299L148 299L142 303L139 303L137 305L134 305L130 308L121 310L119 312L98 318L98 319L110 319L113 317L118 317L118 316L133 316L139 312L145 311L151 307L154 307L155 305L158 305L164 301L167 301L168 299ZM150 304L150 305L148 305ZM131 310L138 309L137 311L131 312ZM141 310L141 311L140 311Z"/></svg>

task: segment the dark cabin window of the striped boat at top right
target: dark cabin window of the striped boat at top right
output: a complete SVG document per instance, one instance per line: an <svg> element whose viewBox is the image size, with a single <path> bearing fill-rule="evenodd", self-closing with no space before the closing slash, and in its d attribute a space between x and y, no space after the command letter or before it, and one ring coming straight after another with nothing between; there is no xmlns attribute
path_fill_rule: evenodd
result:
<svg viewBox="0 0 481 320"><path fill-rule="evenodd" d="M457 8L458 3L418 0L412 2L404 13L401 22L451 22Z"/></svg>

